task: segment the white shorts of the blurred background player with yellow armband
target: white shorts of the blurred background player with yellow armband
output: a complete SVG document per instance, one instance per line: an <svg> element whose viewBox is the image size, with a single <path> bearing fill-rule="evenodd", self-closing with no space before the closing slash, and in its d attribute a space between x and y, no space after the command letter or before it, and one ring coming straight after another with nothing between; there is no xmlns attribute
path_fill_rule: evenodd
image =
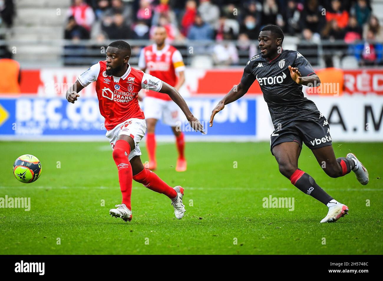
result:
<svg viewBox="0 0 383 281"><path fill-rule="evenodd" d="M179 107L173 101L165 101L155 97L144 98L145 118L161 120L165 125L176 127L180 120Z"/></svg>

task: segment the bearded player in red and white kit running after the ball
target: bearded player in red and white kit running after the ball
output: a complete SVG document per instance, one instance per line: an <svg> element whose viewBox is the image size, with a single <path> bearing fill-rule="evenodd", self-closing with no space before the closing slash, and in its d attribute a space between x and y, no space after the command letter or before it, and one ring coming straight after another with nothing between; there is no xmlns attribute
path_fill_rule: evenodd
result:
<svg viewBox="0 0 383 281"><path fill-rule="evenodd" d="M163 193L172 200L177 219L183 217L185 206L182 204L183 188L167 185L154 172L144 168L138 143L146 132L144 112L139 107L137 95L144 89L169 95L182 109L191 127L203 132L203 127L191 114L180 94L169 84L132 68L128 61L131 47L124 41L112 42L106 49L106 60L92 65L77 76L77 81L67 91L66 97L74 103L84 87L96 82L96 92L100 113L105 117L106 136L113 148L113 159L118 168L118 179L122 193L122 203L111 209L111 216L131 221L132 180L145 187Z"/></svg>

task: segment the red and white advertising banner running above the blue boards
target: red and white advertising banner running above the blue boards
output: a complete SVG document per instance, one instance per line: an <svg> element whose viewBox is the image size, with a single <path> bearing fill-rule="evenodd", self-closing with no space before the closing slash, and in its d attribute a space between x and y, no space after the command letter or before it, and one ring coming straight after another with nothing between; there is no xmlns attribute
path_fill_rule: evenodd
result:
<svg viewBox="0 0 383 281"><path fill-rule="evenodd" d="M41 96L62 96L67 87L76 81L83 68L56 68L21 71L21 93ZM223 95L241 80L243 69L186 70L186 82L182 94ZM87 87L85 96L94 94L94 85ZM344 70L344 93L383 94L383 70ZM262 94L259 84L254 82L248 94Z"/></svg>

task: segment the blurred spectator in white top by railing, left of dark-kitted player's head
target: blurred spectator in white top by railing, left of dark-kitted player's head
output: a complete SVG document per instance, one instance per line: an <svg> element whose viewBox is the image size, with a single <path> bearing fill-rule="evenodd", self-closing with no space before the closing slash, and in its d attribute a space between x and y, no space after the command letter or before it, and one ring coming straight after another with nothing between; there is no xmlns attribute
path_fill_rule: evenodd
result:
<svg viewBox="0 0 383 281"><path fill-rule="evenodd" d="M232 40L232 32L224 33L224 40ZM229 66L239 61L236 46L233 43L221 42L213 47L213 62L215 65Z"/></svg>

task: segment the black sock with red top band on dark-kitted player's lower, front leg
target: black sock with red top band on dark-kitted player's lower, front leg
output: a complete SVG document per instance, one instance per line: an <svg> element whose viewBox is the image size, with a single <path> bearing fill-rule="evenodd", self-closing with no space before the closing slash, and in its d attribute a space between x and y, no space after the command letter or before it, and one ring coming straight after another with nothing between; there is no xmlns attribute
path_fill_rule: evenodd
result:
<svg viewBox="0 0 383 281"><path fill-rule="evenodd" d="M321 201L324 205L327 205L327 203L334 199L316 184L315 180L309 174L300 169L297 169L294 174L291 175L290 180L299 190Z"/></svg>

